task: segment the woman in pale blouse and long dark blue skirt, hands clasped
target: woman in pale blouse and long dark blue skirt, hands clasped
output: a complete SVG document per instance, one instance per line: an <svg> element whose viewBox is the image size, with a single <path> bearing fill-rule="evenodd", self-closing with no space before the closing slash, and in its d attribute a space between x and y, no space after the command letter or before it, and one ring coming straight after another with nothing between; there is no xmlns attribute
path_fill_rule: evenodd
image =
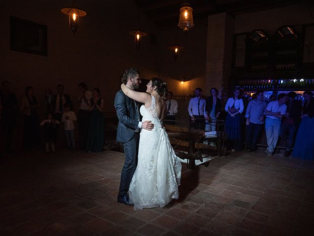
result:
<svg viewBox="0 0 314 236"><path fill-rule="evenodd" d="M243 100L239 96L240 90L234 89L234 96L228 99L225 106L225 111L227 112L225 132L232 151L242 150L241 114L244 110L244 105Z"/></svg>

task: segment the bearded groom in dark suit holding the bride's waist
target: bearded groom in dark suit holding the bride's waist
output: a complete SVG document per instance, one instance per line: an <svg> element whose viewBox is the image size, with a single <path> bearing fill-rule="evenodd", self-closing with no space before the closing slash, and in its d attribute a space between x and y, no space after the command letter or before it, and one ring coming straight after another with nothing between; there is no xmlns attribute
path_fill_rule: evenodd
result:
<svg viewBox="0 0 314 236"><path fill-rule="evenodd" d="M139 72L134 69L127 69L122 76L122 83L130 89L136 90L141 84ZM118 203L131 205L129 202L129 187L137 165L137 153L140 129L152 130L154 124L151 121L140 121L138 103L126 96L120 89L114 99L114 107L119 119L117 129L117 141L124 147L126 160L121 172Z"/></svg>

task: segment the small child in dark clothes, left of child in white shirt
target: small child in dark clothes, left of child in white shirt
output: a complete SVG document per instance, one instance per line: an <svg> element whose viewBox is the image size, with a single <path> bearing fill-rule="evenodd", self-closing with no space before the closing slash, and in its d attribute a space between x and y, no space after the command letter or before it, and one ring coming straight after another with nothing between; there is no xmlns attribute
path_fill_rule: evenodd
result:
<svg viewBox="0 0 314 236"><path fill-rule="evenodd" d="M48 113L45 120L40 123L44 126L44 139L46 144L46 152L49 153L49 144L51 145L52 152L54 152L55 130L60 122L52 118L52 113Z"/></svg>

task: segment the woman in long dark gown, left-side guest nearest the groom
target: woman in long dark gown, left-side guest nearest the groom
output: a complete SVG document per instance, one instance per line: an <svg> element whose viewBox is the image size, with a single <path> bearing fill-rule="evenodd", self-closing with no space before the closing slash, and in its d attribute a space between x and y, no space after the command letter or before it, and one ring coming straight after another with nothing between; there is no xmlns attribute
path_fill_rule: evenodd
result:
<svg viewBox="0 0 314 236"><path fill-rule="evenodd" d="M90 118L87 135L86 151L103 151L105 144L104 137L104 99L100 96L100 89L92 91L93 97L90 103Z"/></svg>

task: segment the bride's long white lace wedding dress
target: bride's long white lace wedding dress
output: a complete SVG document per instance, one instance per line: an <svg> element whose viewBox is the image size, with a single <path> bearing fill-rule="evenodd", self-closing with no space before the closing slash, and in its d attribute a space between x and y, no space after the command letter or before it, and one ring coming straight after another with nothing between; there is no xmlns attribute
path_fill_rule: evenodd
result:
<svg viewBox="0 0 314 236"><path fill-rule="evenodd" d="M179 198L181 163L157 116L152 96L150 108L140 108L142 121L151 120L154 129L142 129L139 140L138 164L132 177L129 197L134 209L164 207Z"/></svg>

